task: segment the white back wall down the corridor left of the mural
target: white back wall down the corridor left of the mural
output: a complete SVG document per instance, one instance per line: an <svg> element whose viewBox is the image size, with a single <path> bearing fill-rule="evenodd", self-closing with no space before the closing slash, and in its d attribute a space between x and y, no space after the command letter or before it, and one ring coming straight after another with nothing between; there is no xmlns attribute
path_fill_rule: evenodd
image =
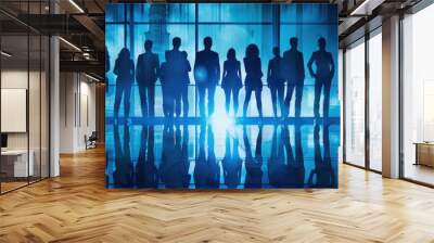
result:
<svg viewBox="0 0 434 243"><path fill-rule="evenodd" d="M95 85L82 74L61 73L60 152L86 149L85 136L95 130Z"/></svg>

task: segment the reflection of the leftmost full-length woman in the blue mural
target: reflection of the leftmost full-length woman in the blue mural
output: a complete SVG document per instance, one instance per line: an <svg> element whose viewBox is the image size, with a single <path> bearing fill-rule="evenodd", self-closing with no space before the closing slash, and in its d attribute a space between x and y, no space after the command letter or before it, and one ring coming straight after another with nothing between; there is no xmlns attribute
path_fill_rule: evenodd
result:
<svg viewBox="0 0 434 243"><path fill-rule="evenodd" d="M114 143L115 143L115 165L116 170L113 172L113 182L115 188L132 188L133 168L130 154L130 137L129 127L124 125L124 146L122 145L119 136L119 126L114 126Z"/></svg>

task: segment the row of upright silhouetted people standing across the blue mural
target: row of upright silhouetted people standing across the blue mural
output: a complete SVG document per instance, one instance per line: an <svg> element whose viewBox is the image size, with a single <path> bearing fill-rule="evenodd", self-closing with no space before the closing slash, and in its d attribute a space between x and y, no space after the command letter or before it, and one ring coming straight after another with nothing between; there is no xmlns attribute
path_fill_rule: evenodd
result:
<svg viewBox="0 0 434 243"><path fill-rule="evenodd" d="M237 52L230 48L227 60L224 62L222 72L217 52L212 50L213 39L205 37L204 50L195 56L193 74L199 93L199 111L201 117L212 116L215 111L215 91L218 85L225 91L226 112L229 113L231 101L233 113L239 110L239 92L243 88L241 62L237 59ZM308 72L315 78L314 115L319 117L320 97L323 92L322 117L329 117L330 89L334 76L334 61L331 52L326 50L326 39L318 39L318 51L315 51L308 63ZM143 117L155 115L155 84L159 79L163 89L163 113L165 117L188 117L189 113L189 73L192 71L188 54L181 51L181 39L173 39L173 49L165 52L165 62L159 63L158 55L152 52L153 42L144 42L145 52L140 54L137 65L131 60L130 52L123 48L116 59L113 73L116 75L116 93L114 103L114 117L118 117L120 101L124 97L124 117L129 116L130 93L133 80L139 87L141 110ZM290 50L283 55L280 49L272 49L273 57L268 63L266 80L271 92L272 111L278 116L278 105L282 117L289 116L289 110L293 93L295 92L295 117L301 116L302 98L305 82L305 64L303 53L298 51L298 39L290 39ZM107 59L108 60L108 59ZM255 92L256 106L259 117L263 117L263 72L259 48L251 43L245 50L243 59L245 78L245 100L243 116L247 115L252 92ZM314 64L316 68L314 69ZM110 63L106 63L106 72ZM221 76L221 82L220 82ZM286 93L285 91L286 84ZM323 90L323 91L322 91ZM205 97L207 95L207 99ZM205 112L207 106L207 114Z"/></svg>

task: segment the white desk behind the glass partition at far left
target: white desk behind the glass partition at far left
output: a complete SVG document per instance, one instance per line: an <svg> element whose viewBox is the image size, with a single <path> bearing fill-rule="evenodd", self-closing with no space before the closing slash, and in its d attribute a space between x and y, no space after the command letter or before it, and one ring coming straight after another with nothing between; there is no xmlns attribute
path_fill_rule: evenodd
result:
<svg viewBox="0 0 434 243"><path fill-rule="evenodd" d="M29 151L30 159L27 165L27 150L7 150L1 151L1 167L7 177L28 177L34 176L34 151Z"/></svg>

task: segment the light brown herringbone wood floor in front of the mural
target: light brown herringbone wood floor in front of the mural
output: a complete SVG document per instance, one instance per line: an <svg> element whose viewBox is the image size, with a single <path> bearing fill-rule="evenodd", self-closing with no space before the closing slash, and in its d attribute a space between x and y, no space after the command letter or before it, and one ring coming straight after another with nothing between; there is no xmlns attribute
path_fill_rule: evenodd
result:
<svg viewBox="0 0 434 243"><path fill-rule="evenodd" d="M104 151L0 196L0 242L434 242L434 190L340 168L339 190L104 188Z"/></svg>

